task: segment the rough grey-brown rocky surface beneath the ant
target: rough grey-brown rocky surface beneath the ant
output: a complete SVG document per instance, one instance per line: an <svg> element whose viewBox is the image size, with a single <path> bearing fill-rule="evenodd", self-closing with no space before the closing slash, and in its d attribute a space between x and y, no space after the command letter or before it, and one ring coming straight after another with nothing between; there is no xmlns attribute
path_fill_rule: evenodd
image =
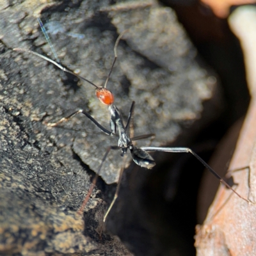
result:
<svg viewBox="0 0 256 256"><path fill-rule="evenodd" d="M81 86L46 61L12 51L50 51L36 17L45 22L61 63L98 85L111 67L117 36L129 28L108 88L125 117L135 100L135 135L156 133L152 145L175 140L182 124L199 118L202 102L212 97L216 80L196 63L196 51L170 8L154 1L109 2L0 3L1 254L131 255L115 236L100 240L97 233L113 187L100 180L84 216L76 214L92 170L117 140L84 116L60 127L44 125L83 108L108 127L108 109L90 84ZM104 164L106 184L118 180L119 154L109 154ZM147 255L156 251L148 246Z"/></svg>

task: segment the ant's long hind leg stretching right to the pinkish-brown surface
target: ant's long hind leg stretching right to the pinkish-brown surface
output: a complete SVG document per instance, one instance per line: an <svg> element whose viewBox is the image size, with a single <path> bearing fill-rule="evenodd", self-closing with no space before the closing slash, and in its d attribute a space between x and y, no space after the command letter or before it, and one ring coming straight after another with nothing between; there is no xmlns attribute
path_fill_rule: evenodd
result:
<svg viewBox="0 0 256 256"><path fill-rule="evenodd" d="M196 157L196 159L198 159L198 161L200 161L205 168L207 168L217 179L220 180L220 182L222 184L224 184L225 186L227 186L227 188L231 189L234 193L236 193L237 196L239 196L241 199L245 200L246 202L250 203L250 201L246 198L244 198L243 196L239 195L236 190L232 189L227 182L225 182L225 180L223 180L220 175L218 175L218 173L214 172L214 170L207 164L205 163L205 161L198 156L193 150L191 150L190 148L165 148L165 147L141 147L142 150L145 151L161 151L161 152L172 152L172 153L190 153L193 156Z"/></svg>

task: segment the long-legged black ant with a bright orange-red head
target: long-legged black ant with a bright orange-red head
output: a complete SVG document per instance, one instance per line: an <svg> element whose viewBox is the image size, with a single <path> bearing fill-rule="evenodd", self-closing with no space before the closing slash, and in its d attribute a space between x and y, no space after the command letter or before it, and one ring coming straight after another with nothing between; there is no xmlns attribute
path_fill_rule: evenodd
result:
<svg viewBox="0 0 256 256"><path fill-rule="evenodd" d="M231 186L229 186L227 184L227 182L225 182L225 180L223 180L220 177L220 175L218 175L218 173L214 172L214 170L212 170L212 168L207 163L205 163L205 161L200 156L198 156L195 152L193 152L193 150L191 150L190 148L186 148L186 147L140 147L140 148L137 148L137 147L134 146L132 141L141 140L141 139L145 139L145 138L150 138L150 137L153 137L154 134L145 134L145 135L136 136L136 137L131 138L131 136L130 136L130 125L131 125L131 121L132 121L132 118L133 118L133 115L134 115L135 102L132 101L131 109L129 111L129 115L128 115L128 118L127 118L127 124L124 125L122 115L121 115L119 109L114 104L114 101L115 101L114 95L113 95L113 93L111 93L106 88L106 86L108 84L109 77L111 76L111 72L112 72L113 67L115 65L115 62L116 62L116 58L117 58L116 49L117 49L118 43L119 43L120 39L122 38L122 36L124 35L124 33L126 33L128 29L123 31L118 36L118 38L116 39L115 47L114 47L115 58L114 58L114 61L111 65L111 69L110 69L110 72L108 74L108 77L106 78L104 86L102 87L102 86L97 86L96 84L92 83L88 79L85 79L84 77L81 77L81 76L75 74L74 72L68 70L67 68L63 67L62 65L60 65L60 61L58 60L57 54L54 51L54 48L51 44L51 40L49 39L49 36L47 35L47 32L45 31L44 25L43 25L42 21L40 20L40 18L38 18L38 23L40 24L40 28L42 29L47 42L50 44L52 52L54 53L54 56L55 56L55 58L58 62L53 61L53 60L51 60L51 59L49 59L49 58L47 58L47 57L45 57L41 54L38 54L37 52L29 51L29 50L26 50L26 49L15 48L15 49L13 49L13 51L28 52L28 53L35 54L36 56L38 56L40 58L43 58L44 60L49 61L52 64L56 65L58 68L63 70L63 72L67 72L69 74L72 74L72 75L78 77L79 79L82 79L82 80L86 81L87 83L92 84L95 87L96 97L100 100L100 102L102 104L105 104L106 106L108 106L109 116L110 116L110 120L109 120L110 131L108 129L104 128L102 125L100 125L99 122L97 122L97 120L95 120L89 113L87 113L83 109L79 109L78 111L72 113L71 115L61 118L61 120L59 120L58 122L55 122L55 123L46 123L45 122L45 124L47 124L47 126L49 126L49 127L54 127L54 126L57 126L57 125L61 124L62 122L66 122L66 121L70 120L70 118L78 115L79 113L83 113L83 115L88 117L102 132L104 132L108 136L113 136L114 134L116 134L116 130L117 130L118 136L119 136L118 145L117 146L110 146L110 147L107 148L106 153L104 154L104 157L102 158L100 166L99 166L99 168L96 172L96 175L93 178L92 184L91 184L90 188L88 189L88 193L86 194L86 196L84 198L83 204L81 205L81 207L79 208L77 213L79 213L79 214L83 213L84 207L86 206L86 204L87 204L87 202L90 198L90 195L92 194L93 188L95 187L97 179L99 177L102 165L104 164L104 161L106 161L110 150L119 150L119 149L121 149L121 156L122 157L125 156L125 154L127 153L127 150L129 150L131 152L131 156L132 156L133 161L136 164L138 164L139 166L141 166L143 168L147 168L147 169L151 169L156 165L153 157L150 156L150 154L148 154L148 152L158 151L158 152L171 152L171 153L190 153L193 156L195 156L196 159L198 159L198 161L200 161L200 163L202 163L205 166L205 168L207 168L207 170L209 170L217 179L219 179L221 183L223 183L225 186L227 186L227 188L231 189L234 193L236 193L236 195L239 196L239 198L242 198L246 202L250 203L250 201L248 199L239 195L239 193L237 193L234 189L232 189ZM101 237L101 234L102 234L104 223L106 222L106 218L108 217L108 214L111 211L111 208L113 207L113 205L115 204L116 198L118 197L118 193L119 193L119 189L120 189L120 181L121 181L121 178L122 178L123 171L124 171L124 166L120 170L120 175L119 175L118 185L116 187L115 196L114 196L114 198L111 202L111 205L109 206L106 214L104 215L103 225L100 228L100 233L99 233L100 237Z"/></svg>

